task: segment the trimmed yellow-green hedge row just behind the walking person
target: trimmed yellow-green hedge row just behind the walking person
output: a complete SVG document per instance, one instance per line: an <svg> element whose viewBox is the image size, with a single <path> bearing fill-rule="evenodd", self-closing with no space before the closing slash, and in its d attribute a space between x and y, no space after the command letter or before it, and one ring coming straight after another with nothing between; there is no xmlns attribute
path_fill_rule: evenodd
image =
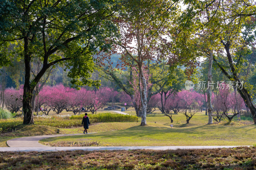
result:
<svg viewBox="0 0 256 170"><path fill-rule="evenodd" d="M72 115L70 119L82 120L84 115ZM122 115L122 114L111 114L111 113L99 113L97 115L88 114L90 122L100 123L100 122L138 122L137 116L132 115Z"/></svg>

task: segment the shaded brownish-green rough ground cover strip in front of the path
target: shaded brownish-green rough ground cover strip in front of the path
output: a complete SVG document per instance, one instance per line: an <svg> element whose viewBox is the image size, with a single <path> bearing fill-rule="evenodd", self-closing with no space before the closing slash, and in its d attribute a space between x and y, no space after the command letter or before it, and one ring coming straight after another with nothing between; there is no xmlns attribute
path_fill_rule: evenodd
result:
<svg viewBox="0 0 256 170"><path fill-rule="evenodd" d="M0 152L0 169L255 169L256 148Z"/></svg>

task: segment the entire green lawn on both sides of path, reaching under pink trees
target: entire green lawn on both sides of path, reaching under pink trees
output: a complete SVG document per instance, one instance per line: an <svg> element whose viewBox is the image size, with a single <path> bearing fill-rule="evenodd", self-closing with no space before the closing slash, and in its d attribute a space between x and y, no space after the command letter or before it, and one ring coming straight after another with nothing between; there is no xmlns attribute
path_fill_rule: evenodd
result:
<svg viewBox="0 0 256 170"><path fill-rule="evenodd" d="M136 115L133 108L125 112ZM241 122L250 122L246 117L241 118L243 120ZM51 138L43 142L97 141L102 146L252 145L256 143L255 125L206 125L208 116L204 112L196 113L189 124L185 124L186 116L180 113L172 115L172 119L173 123L169 117L158 110L154 114L147 115L148 126L145 127L140 126L141 118L139 122L94 123L89 127L88 132L99 132L97 134ZM234 121L236 120L237 118L234 118ZM174 128L170 128L170 124ZM57 129L60 129L60 134L82 133L84 130L82 125L66 129L42 125L20 125L11 133L0 134L0 145L7 146L6 141L14 137L56 134Z"/></svg>

